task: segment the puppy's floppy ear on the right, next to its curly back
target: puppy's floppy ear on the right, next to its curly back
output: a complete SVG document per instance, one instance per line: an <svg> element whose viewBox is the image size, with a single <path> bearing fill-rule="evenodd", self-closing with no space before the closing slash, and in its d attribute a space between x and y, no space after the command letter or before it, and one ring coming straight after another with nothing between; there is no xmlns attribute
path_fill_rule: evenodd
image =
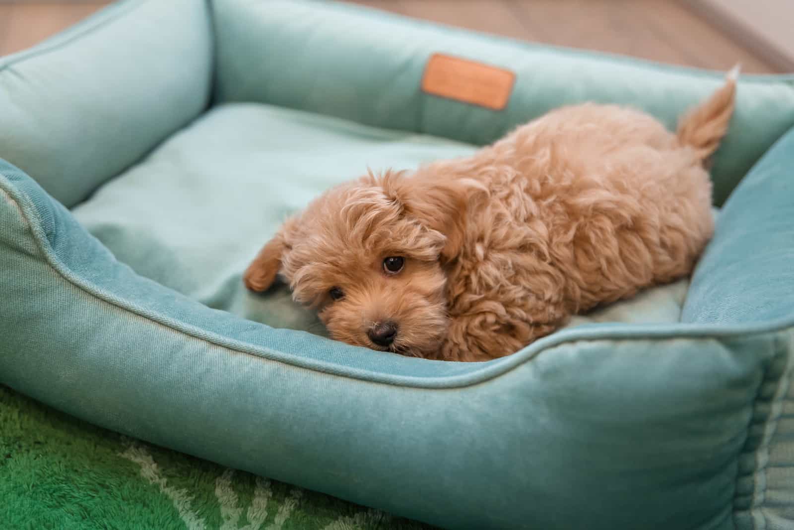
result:
<svg viewBox="0 0 794 530"><path fill-rule="evenodd" d="M386 194L403 205L405 213L422 225L446 237L440 259L454 259L464 244L466 210L472 200L488 189L473 179L444 175L443 171L418 171L413 176L387 171L383 178Z"/></svg>

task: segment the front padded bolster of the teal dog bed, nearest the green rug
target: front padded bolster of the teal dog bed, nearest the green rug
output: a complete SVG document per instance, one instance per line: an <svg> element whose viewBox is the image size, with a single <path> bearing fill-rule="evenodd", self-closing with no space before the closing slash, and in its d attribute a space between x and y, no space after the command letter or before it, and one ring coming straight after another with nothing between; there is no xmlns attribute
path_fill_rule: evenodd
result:
<svg viewBox="0 0 794 530"><path fill-rule="evenodd" d="M134 275L21 171L2 175L0 374L14 389L449 527L732 528L751 516L737 488L756 483L753 444L769 450L752 435L780 405L790 331L583 327L466 374L366 374L344 355L368 352ZM306 362L312 349L322 363Z"/></svg>

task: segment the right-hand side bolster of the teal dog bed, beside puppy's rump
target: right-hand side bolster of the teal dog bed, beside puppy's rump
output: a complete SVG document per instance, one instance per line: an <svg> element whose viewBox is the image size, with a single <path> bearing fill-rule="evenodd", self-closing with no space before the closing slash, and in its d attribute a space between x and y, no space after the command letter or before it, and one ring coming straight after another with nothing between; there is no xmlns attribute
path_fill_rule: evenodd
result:
<svg viewBox="0 0 794 530"><path fill-rule="evenodd" d="M720 213L714 239L692 277L685 323L737 327L794 313L794 130L742 180ZM791 337L789 337L789 344ZM748 441L753 480L738 483L738 528L794 525L794 367L761 388L757 407L769 414ZM783 361L781 360L781 363Z"/></svg>

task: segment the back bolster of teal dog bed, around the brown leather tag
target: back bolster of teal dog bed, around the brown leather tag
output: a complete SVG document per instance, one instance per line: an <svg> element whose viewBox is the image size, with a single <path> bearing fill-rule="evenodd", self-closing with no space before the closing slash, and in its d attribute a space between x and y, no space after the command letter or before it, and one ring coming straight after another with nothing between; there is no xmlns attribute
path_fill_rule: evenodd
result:
<svg viewBox="0 0 794 530"><path fill-rule="evenodd" d="M342 3L213 2L218 102L262 102L367 125L486 144L557 106L591 100L677 117L723 83L703 72L476 35ZM424 94L431 54L515 71L507 108ZM794 125L794 76L742 76L715 156L715 204Z"/></svg>

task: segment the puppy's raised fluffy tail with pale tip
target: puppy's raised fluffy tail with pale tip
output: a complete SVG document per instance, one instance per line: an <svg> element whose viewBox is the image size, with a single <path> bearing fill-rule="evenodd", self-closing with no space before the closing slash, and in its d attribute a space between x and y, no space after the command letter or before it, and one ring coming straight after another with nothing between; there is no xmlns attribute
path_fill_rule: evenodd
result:
<svg viewBox="0 0 794 530"><path fill-rule="evenodd" d="M678 141L695 149L703 161L717 150L719 140L728 130L730 117L734 113L738 76L737 64L726 75L725 84L711 94L711 98L690 110L678 122Z"/></svg>

